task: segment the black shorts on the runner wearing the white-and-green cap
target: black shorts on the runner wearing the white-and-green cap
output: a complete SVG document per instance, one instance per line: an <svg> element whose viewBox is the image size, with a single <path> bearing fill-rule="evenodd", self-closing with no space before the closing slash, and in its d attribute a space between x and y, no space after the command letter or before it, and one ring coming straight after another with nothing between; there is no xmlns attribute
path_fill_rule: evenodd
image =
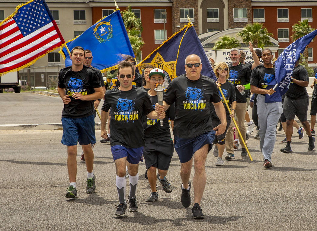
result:
<svg viewBox="0 0 317 231"><path fill-rule="evenodd" d="M174 144L171 139L146 143L143 148L146 169L153 166L167 171L170 167L173 152Z"/></svg>

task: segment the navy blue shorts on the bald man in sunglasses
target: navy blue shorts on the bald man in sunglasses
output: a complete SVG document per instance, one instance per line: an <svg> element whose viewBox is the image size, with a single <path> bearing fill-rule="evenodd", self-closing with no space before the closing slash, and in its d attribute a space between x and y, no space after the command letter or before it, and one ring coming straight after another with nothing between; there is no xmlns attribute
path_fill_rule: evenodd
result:
<svg viewBox="0 0 317 231"><path fill-rule="evenodd" d="M215 139L216 132L214 130L206 132L204 134L198 135L194 138L180 138L176 135L174 136L174 148L177 152L179 162L186 163L191 160L194 153L201 149L205 144L210 144L208 152L212 148L212 142Z"/></svg>

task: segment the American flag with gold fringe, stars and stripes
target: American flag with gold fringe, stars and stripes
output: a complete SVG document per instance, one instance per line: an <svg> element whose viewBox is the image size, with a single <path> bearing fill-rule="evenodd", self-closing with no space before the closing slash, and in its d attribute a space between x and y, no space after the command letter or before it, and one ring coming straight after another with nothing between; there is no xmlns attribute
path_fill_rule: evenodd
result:
<svg viewBox="0 0 317 231"><path fill-rule="evenodd" d="M0 24L0 73L27 67L65 43L44 0L16 11Z"/></svg>

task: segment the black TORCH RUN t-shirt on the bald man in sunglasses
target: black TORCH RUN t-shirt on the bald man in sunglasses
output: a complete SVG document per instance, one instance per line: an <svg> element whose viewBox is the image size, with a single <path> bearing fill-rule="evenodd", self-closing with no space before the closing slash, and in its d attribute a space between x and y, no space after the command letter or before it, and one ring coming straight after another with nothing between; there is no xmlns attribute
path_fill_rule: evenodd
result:
<svg viewBox="0 0 317 231"><path fill-rule="evenodd" d="M214 80L201 75L190 80L186 74L173 79L166 89L164 101L175 102L174 135L193 138L211 131L210 102L220 102Z"/></svg>

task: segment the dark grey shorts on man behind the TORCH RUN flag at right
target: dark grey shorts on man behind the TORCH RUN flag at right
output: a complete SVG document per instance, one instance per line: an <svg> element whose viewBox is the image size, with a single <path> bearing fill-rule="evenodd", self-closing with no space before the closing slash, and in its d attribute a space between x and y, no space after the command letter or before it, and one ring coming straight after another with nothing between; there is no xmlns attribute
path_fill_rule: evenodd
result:
<svg viewBox="0 0 317 231"><path fill-rule="evenodd" d="M284 99L283 113L286 120L294 120L295 116L303 122L307 121L307 109L309 99L290 99L287 96Z"/></svg>

